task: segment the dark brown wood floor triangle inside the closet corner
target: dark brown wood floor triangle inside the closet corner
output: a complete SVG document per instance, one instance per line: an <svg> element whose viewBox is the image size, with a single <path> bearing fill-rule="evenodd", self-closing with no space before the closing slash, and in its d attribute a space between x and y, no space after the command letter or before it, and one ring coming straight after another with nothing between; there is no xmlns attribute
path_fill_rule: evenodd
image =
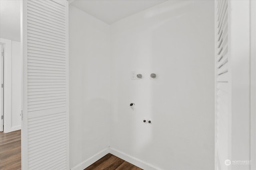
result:
<svg viewBox="0 0 256 170"><path fill-rule="evenodd" d="M112 154L107 154L84 170L142 170Z"/></svg>

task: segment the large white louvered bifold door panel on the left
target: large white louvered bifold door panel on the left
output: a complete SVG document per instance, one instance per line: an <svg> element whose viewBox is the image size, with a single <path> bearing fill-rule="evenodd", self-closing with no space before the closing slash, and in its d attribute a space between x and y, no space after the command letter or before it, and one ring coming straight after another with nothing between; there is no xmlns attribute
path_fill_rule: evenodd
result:
<svg viewBox="0 0 256 170"><path fill-rule="evenodd" d="M22 169L69 169L68 4L24 0Z"/></svg>

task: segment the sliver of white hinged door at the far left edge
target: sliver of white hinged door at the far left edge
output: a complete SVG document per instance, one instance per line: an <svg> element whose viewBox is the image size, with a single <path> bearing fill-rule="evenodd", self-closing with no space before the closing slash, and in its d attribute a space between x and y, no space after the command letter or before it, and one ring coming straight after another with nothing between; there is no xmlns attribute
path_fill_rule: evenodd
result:
<svg viewBox="0 0 256 170"><path fill-rule="evenodd" d="M4 49L0 44L0 131L4 131Z"/></svg>

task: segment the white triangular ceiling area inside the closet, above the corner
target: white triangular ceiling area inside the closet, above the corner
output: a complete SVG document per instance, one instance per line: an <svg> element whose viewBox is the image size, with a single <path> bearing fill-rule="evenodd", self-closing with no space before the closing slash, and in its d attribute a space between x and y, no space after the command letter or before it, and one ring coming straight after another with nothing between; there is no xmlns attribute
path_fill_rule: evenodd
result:
<svg viewBox="0 0 256 170"><path fill-rule="evenodd" d="M70 4L108 24L167 0L69 0Z"/></svg>

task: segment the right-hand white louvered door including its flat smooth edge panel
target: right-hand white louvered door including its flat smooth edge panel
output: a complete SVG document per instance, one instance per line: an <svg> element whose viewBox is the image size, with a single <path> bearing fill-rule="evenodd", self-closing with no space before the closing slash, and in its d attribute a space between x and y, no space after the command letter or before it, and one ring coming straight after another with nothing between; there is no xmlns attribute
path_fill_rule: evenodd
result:
<svg viewBox="0 0 256 170"><path fill-rule="evenodd" d="M251 159L250 6L249 0L215 0L215 165L219 170L250 169L249 164L232 162Z"/></svg>

